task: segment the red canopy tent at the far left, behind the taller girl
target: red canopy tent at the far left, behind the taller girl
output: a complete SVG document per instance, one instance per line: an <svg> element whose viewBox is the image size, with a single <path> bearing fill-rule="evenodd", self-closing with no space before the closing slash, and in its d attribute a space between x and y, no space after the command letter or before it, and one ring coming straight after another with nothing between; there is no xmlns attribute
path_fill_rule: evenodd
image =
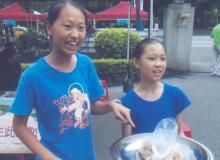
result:
<svg viewBox="0 0 220 160"><path fill-rule="evenodd" d="M5 8L0 9L0 20L15 20L15 21L37 21L44 20L45 14L33 14L25 12L19 3L13 3Z"/></svg>

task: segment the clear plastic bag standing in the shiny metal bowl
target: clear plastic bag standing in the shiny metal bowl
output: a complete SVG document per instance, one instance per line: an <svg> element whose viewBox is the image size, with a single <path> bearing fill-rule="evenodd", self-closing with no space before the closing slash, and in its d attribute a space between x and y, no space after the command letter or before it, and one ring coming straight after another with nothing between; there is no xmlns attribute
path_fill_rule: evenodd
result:
<svg viewBox="0 0 220 160"><path fill-rule="evenodd" d="M174 118L162 119L152 137L152 150L156 157L166 158L176 144L178 125Z"/></svg>

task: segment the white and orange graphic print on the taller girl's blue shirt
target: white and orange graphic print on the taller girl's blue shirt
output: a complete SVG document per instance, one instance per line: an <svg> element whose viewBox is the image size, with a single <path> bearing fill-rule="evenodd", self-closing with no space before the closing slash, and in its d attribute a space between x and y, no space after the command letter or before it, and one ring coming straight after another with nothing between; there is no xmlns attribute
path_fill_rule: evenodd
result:
<svg viewBox="0 0 220 160"><path fill-rule="evenodd" d="M70 127L85 128L89 125L90 102L80 83L73 83L68 88L68 95L55 100L60 111L60 134Z"/></svg>

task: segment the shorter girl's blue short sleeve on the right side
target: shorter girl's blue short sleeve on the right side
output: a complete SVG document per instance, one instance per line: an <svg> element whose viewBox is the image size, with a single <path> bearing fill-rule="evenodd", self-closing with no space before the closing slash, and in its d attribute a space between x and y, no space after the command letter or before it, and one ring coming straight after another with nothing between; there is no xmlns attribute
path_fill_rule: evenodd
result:
<svg viewBox="0 0 220 160"><path fill-rule="evenodd" d="M180 88L177 87L175 87L174 101L176 115L181 113L185 108L187 108L191 104L191 101L188 98L188 96Z"/></svg>

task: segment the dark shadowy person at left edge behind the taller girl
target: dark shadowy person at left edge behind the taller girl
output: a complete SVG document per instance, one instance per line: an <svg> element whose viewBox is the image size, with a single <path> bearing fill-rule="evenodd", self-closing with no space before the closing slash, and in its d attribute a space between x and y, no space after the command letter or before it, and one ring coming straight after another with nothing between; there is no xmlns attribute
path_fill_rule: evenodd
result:
<svg viewBox="0 0 220 160"><path fill-rule="evenodd" d="M16 90L21 72L16 46L14 42L6 42L5 49L0 53L0 90Z"/></svg>

